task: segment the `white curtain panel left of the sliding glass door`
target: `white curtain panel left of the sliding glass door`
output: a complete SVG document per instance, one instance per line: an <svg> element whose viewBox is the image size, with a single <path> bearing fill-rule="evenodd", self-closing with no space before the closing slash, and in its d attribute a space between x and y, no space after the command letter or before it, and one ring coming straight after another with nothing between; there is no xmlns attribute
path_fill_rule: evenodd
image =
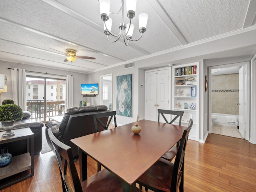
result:
<svg viewBox="0 0 256 192"><path fill-rule="evenodd" d="M26 111L26 70L14 68L14 70L11 70L11 78L12 100L23 111Z"/></svg>

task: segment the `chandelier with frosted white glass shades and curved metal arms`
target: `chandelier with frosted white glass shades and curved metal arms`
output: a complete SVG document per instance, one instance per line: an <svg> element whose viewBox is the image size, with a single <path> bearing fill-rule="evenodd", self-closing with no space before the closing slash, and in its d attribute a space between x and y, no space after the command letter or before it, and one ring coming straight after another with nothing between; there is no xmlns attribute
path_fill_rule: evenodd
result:
<svg viewBox="0 0 256 192"><path fill-rule="evenodd" d="M115 35L115 34L111 33L112 19L108 16L109 10L110 10L110 0L99 0L100 17L104 22L104 33L106 34L108 41L110 41L112 43L116 42L120 39L121 35L123 35L123 37L124 37L124 43L126 46L128 45L129 41L140 40L140 38L142 37L142 34L146 31L148 15L146 13L141 13L139 15L140 38L133 40L132 34L133 34L133 30L134 30L134 25L131 22L132 22L132 18L134 18L134 16L135 16L136 2L137 2L137 0L126 0L127 17L130 19L130 23L125 24L124 23L124 0L122 0L122 6L119 11L119 12L121 12L121 10L122 10L122 23L119 24L119 29L120 29L119 34ZM117 37L117 39L114 41L111 41L108 38L109 35Z"/></svg>

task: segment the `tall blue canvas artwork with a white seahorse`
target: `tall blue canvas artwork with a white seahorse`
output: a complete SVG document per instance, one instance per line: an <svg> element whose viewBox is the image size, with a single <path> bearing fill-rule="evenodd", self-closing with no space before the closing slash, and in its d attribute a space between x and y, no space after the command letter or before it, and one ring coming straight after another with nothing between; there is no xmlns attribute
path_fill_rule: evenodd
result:
<svg viewBox="0 0 256 192"><path fill-rule="evenodd" d="M132 74L116 77L116 114L132 116Z"/></svg>

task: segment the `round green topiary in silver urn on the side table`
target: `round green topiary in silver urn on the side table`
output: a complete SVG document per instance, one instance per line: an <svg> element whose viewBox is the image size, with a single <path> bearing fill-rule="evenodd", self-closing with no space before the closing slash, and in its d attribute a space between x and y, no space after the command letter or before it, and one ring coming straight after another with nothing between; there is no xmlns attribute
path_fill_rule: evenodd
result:
<svg viewBox="0 0 256 192"><path fill-rule="evenodd" d="M6 104L0 106L0 122L2 122L2 126L6 130L3 137L14 135L14 132L11 131L14 121L22 120L22 117L22 108L16 104Z"/></svg>

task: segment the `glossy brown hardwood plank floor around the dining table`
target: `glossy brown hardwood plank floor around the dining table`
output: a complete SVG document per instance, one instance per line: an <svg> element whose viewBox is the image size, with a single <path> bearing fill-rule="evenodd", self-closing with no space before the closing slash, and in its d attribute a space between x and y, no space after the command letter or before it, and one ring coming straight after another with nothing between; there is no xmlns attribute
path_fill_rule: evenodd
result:
<svg viewBox="0 0 256 192"><path fill-rule="evenodd" d="M88 158L88 176L96 173L96 166L96 162ZM79 171L79 160L76 168ZM54 153L40 154L35 157L35 175L32 178L0 192L61 192L59 174ZM185 192L251 192L255 188L256 145L244 139L217 134L209 134L205 144L188 140Z"/></svg>

